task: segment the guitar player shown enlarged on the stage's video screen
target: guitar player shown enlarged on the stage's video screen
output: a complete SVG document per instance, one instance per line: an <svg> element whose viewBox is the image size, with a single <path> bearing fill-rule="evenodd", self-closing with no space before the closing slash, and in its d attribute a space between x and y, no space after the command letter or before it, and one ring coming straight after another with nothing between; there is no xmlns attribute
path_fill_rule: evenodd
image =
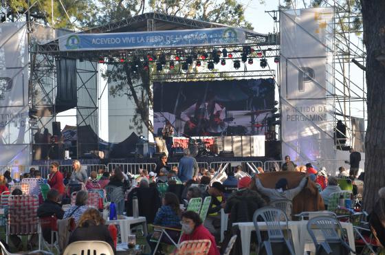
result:
<svg viewBox="0 0 385 255"><path fill-rule="evenodd" d="M221 107L214 98L212 93L208 94L206 100L199 98L197 103L181 112L181 119L186 122L186 135L219 135L223 132L225 107Z"/></svg>

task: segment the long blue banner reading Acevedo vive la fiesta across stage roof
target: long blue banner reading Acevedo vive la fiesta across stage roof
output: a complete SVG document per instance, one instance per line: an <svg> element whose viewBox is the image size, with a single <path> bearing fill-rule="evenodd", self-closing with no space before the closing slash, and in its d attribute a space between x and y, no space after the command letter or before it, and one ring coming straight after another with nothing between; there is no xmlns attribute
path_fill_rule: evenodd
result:
<svg viewBox="0 0 385 255"><path fill-rule="evenodd" d="M245 43L245 31L224 27L109 34L71 34L59 38L61 51L140 49Z"/></svg>

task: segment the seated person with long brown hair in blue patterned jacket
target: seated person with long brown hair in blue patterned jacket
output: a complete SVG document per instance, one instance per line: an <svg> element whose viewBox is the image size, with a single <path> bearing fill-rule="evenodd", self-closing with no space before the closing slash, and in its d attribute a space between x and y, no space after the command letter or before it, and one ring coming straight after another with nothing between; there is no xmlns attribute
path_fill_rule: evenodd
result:
<svg viewBox="0 0 385 255"><path fill-rule="evenodd" d="M180 228L180 220L181 220L181 210L179 208L179 200L177 196L173 193L166 192L164 194L164 198L162 199L162 207L159 208L157 214L155 215L154 225L161 225L169 228ZM178 233L174 233L173 231L168 231L168 234L171 238L177 237ZM173 235L174 234L174 235ZM151 254L153 254L155 250L156 243L151 242L151 239L159 239L159 232L148 234L147 243L151 247ZM175 240L176 239L176 240ZM175 243L177 243L177 238L173 239ZM162 242L171 243L168 240L168 237L164 236L162 238Z"/></svg>

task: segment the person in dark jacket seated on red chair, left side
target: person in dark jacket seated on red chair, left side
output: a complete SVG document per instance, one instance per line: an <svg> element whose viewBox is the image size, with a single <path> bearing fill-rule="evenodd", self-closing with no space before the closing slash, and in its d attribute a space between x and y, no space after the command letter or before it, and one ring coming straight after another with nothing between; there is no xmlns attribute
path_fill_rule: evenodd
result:
<svg viewBox="0 0 385 255"><path fill-rule="evenodd" d="M63 219L64 211L61 208L61 205L58 203L60 201L61 195L57 190L50 189L47 192L47 199L39 206L37 209L37 217L51 217L54 215L57 219ZM51 242L51 229L42 228L41 230L43 238L47 242Z"/></svg>

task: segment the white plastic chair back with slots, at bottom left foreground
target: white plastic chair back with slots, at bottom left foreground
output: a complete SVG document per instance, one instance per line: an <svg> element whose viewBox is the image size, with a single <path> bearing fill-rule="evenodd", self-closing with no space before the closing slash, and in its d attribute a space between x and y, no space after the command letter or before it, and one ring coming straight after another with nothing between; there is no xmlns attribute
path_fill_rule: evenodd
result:
<svg viewBox="0 0 385 255"><path fill-rule="evenodd" d="M74 254L113 255L113 250L108 243L103 241L78 241L70 243L63 252L63 255Z"/></svg>

